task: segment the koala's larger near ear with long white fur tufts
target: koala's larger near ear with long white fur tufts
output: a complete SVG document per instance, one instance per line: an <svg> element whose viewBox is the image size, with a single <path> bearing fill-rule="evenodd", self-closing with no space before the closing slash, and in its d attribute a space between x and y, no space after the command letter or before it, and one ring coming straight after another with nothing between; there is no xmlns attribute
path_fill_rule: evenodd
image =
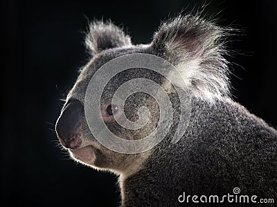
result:
<svg viewBox="0 0 277 207"><path fill-rule="evenodd" d="M201 97L229 95L229 70L222 56L226 53L224 37L228 31L200 17L180 15L160 26L152 49L179 70L184 82L177 85Z"/></svg>

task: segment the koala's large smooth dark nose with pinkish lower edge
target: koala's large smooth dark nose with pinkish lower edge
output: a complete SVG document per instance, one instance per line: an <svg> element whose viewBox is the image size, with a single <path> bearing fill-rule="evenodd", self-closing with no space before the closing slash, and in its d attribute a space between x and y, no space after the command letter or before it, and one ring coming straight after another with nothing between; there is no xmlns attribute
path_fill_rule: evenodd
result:
<svg viewBox="0 0 277 207"><path fill-rule="evenodd" d="M57 119L56 132L65 148L76 149L82 144L82 115L84 108L78 100L70 100Z"/></svg>

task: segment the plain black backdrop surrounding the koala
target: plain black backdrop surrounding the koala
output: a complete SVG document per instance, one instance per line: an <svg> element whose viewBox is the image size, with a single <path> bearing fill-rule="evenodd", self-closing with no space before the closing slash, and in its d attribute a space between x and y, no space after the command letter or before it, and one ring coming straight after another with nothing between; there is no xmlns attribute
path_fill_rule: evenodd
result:
<svg viewBox="0 0 277 207"><path fill-rule="evenodd" d="M229 57L233 98L277 127L275 0L206 1L221 26L244 30ZM111 19L133 43L160 21L202 1L1 1L1 203L7 206L118 206L116 177L76 164L57 146L55 120L88 60L87 19Z"/></svg>

